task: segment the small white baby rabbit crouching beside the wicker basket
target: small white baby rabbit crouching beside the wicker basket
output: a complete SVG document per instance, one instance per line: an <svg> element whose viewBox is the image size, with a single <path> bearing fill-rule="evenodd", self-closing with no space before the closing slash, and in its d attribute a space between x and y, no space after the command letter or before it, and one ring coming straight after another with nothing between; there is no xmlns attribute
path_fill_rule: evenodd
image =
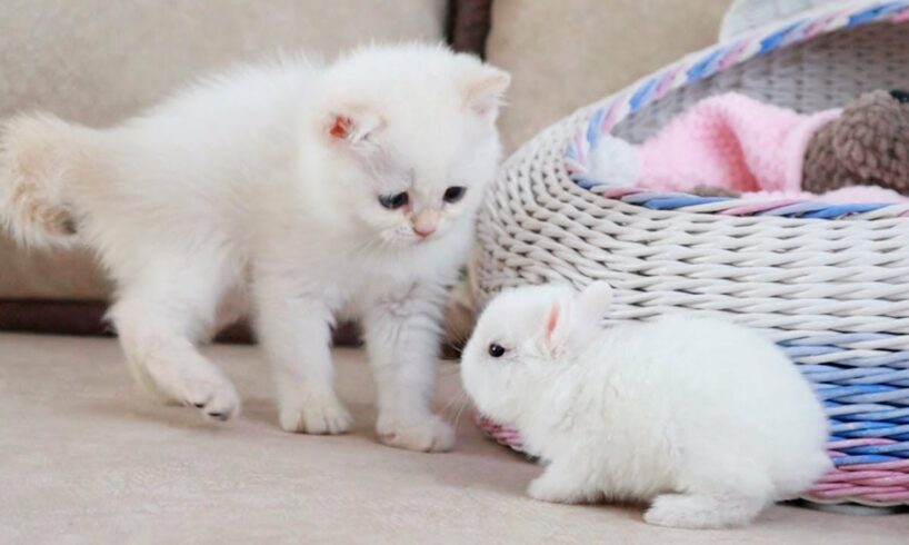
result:
<svg viewBox="0 0 909 545"><path fill-rule="evenodd" d="M610 299L602 283L507 291L465 348L477 407L548 463L532 497L652 502L651 524L733 526L830 468L820 404L772 343L690 316L601 329Z"/></svg>

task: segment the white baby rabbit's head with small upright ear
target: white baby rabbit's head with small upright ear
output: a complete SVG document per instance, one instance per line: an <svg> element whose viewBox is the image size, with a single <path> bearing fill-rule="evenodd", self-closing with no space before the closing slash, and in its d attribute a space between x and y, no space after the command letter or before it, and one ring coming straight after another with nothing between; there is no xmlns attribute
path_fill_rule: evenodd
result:
<svg viewBox="0 0 909 545"><path fill-rule="evenodd" d="M612 289L597 281L503 291L483 310L461 355L461 379L477 407L515 424L538 393L600 333Z"/></svg>

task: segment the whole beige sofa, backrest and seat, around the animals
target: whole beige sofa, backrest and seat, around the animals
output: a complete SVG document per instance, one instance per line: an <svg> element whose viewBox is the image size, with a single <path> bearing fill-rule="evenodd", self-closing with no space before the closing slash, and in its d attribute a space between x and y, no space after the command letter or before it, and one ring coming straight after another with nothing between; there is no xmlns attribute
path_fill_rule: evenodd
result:
<svg viewBox="0 0 909 545"><path fill-rule="evenodd" d="M450 40L510 70L509 150L572 109L715 41L727 0L9 0L0 117L44 108L104 125L180 81L277 48L331 56L367 39ZM488 39L487 39L488 32ZM483 44L485 43L485 44ZM83 254L0 236L0 329L101 333L110 294ZM0 543L887 543L899 522L771 509L748 534L651 528L635 507L523 497L537 468L439 403L458 448L418 455L372 436L363 354L339 349L352 437L276 425L258 353L214 346L244 399L223 426L133 394L112 339L0 334ZM870 521L870 522L869 522ZM905 525L903 525L905 529Z"/></svg>

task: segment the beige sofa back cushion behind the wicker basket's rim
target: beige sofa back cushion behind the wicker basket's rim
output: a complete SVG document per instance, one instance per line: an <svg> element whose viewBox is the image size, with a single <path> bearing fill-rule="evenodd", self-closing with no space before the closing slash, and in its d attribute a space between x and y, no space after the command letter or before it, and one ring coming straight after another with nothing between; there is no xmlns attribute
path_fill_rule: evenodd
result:
<svg viewBox="0 0 909 545"><path fill-rule="evenodd" d="M513 77L501 119L507 150L578 107L713 43L728 6L729 0L493 1L486 56Z"/></svg>

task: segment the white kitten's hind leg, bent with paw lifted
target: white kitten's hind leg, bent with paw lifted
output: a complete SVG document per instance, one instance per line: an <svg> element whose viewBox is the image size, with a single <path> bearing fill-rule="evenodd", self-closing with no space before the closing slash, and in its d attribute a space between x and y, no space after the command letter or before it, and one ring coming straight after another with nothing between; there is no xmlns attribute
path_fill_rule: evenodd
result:
<svg viewBox="0 0 909 545"><path fill-rule="evenodd" d="M182 272L128 286L110 316L141 387L226 420L240 410L237 390L196 346L213 320L216 283Z"/></svg>

